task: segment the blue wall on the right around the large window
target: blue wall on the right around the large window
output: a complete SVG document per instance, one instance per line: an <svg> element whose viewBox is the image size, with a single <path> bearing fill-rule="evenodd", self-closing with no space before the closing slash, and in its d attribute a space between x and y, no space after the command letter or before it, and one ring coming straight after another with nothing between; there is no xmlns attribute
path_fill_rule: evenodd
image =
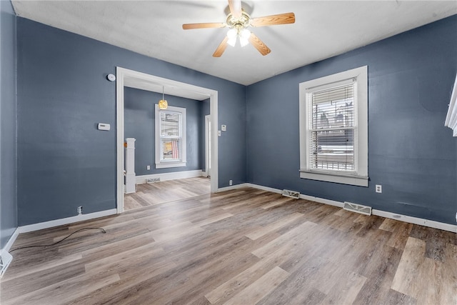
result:
<svg viewBox="0 0 457 305"><path fill-rule="evenodd" d="M455 224L456 138L444 120L456 33L451 16L248 86L248 182ZM298 84L365 65L369 187L300 179Z"/></svg>

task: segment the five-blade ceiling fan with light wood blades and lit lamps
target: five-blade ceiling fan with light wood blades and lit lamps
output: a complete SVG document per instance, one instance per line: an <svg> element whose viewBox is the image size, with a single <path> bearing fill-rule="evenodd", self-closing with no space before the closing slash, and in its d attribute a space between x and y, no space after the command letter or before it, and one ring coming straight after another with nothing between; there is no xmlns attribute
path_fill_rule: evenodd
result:
<svg viewBox="0 0 457 305"><path fill-rule="evenodd" d="M263 56L269 54L271 50L263 43L256 34L253 34L247 28L249 26L273 26L276 24L293 24L295 22L295 14L277 14L271 16L263 16L251 18L246 11L241 8L241 0L229 0L230 14L227 16L226 22L222 23L201 23L201 24L183 24L183 29L209 29L209 28L224 28L229 27L224 40L219 44L214 57L221 57L228 45L235 46L236 40L239 37L241 46L251 43Z"/></svg>

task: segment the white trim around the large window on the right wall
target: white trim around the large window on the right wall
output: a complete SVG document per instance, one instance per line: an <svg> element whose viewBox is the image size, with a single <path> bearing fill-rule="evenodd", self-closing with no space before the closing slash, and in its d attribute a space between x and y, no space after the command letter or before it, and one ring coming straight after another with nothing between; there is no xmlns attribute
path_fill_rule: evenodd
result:
<svg viewBox="0 0 457 305"><path fill-rule="evenodd" d="M308 164L309 116L307 97L313 91L331 88L349 79L356 79L356 95L354 96L354 169L355 173L342 173L321 169L311 169ZM319 79L304 81L299 84L299 116L300 116L300 178L368 186L368 66L343 71Z"/></svg>

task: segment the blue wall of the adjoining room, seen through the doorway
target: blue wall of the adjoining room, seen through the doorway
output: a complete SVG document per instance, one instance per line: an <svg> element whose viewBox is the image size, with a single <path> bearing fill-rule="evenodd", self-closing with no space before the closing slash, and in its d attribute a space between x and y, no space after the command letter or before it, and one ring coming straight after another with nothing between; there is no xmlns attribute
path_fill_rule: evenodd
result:
<svg viewBox="0 0 457 305"><path fill-rule="evenodd" d="M201 111L204 102L196 101L194 99L184 99L178 96L165 96L165 98L168 101L169 106L186 108L186 166L156 169L154 104L157 104L159 100L162 99L162 94L140 89L125 88L124 136L126 138L136 139L136 176L202 169L201 155L203 154L204 156L205 151L204 149L201 150L201 142L204 143L201 129L205 128L205 114L202 114ZM148 165L151 166L149 171L146 169L146 166Z"/></svg>

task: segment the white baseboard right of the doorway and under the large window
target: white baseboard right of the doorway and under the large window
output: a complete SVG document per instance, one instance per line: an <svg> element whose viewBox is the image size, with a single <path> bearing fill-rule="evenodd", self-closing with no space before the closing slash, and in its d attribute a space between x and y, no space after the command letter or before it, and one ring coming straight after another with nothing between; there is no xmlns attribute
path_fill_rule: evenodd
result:
<svg viewBox="0 0 457 305"><path fill-rule="evenodd" d="M247 184L237 184L236 186L229 186L229 188L224 188L224 190L237 189L237 188L246 187L246 186L253 187L254 189L262 189L263 191L271 191L273 193L278 193L278 194L282 193L281 189L273 189L268 186L261 186L261 185L257 185L257 184L248 184L248 183ZM219 191L220 190L221 189L219 189ZM323 199L323 198L313 197L313 196L308 196L308 195L303 195L303 194L300 194L300 198L310 200L310 201L316 201L321 204L330 204L331 206L338 206L341 208L344 205L343 202L333 201L333 200L328 200L328 199ZM396 214L396 213L392 213L392 212L388 212L388 211L381 211L381 210L376 210L376 209L371 210L371 214L376 215L376 216L385 217L388 219L395 219L395 220L399 220L399 221L408 222L409 224L419 224L421 226L428 226L428 227L431 227L434 229L440 229L440 230L444 230L444 231L450 231L450 232L457 233L457 225L454 225L454 224L446 224L446 223L439 222L439 221L422 219L422 218L417 218L417 217L413 217L413 216L406 216L406 215L401 215L401 214Z"/></svg>

